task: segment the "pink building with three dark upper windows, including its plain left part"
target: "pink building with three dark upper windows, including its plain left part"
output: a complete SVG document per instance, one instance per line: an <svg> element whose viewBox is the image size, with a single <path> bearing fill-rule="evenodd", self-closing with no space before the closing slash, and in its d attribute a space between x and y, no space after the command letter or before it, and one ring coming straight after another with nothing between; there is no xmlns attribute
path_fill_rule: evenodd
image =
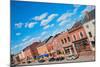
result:
<svg viewBox="0 0 100 67"><path fill-rule="evenodd" d="M57 56L65 56L67 58L71 55L77 55L76 48L71 42L70 35L67 31L61 32L54 37L53 47L57 52Z"/></svg>

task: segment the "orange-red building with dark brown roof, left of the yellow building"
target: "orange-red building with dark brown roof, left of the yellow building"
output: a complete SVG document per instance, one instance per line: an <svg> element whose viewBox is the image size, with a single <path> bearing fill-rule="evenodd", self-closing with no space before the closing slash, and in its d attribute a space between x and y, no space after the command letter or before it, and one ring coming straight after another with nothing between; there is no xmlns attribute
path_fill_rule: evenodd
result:
<svg viewBox="0 0 100 67"><path fill-rule="evenodd" d="M36 47L40 44L40 42L34 42L30 46L23 49L25 60L28 61L34 61L36 59L36 56L38 56L38 51Z"/></svg>

